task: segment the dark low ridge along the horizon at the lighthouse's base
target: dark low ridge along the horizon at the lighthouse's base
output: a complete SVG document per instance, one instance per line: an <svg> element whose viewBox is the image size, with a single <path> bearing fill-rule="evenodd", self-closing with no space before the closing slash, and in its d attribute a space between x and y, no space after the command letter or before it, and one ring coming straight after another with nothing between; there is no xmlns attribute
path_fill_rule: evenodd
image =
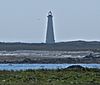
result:
<svg viewBox="0 0 100 85"><path fill-rule="evenodd" d="M58 51L100 51L100 42L98 41L70 41L55 44L45 43L5 43L0 42L0 51L15 50L58 50Z"/></svg>

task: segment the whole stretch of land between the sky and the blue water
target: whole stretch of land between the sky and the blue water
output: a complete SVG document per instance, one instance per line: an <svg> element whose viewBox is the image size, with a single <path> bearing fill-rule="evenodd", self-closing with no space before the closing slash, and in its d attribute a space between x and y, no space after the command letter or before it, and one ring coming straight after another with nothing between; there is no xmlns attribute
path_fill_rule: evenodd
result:
<svg viewBox="0 0 100 85"><path fill-rule="evenodd" d="M0 63L100 63L100 42L1 42Z"/></svg>

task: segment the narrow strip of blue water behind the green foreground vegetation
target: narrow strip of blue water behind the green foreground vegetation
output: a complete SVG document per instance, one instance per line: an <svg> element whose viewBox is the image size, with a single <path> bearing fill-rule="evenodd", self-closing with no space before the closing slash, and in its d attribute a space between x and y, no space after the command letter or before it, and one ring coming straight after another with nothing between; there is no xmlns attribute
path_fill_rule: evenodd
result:
<svg viewBox="0 0 100 85"><path fill-rule="evenodd" d="M100 69L100 64L0 64L0 70L61 69L71 65Z"/></svg>

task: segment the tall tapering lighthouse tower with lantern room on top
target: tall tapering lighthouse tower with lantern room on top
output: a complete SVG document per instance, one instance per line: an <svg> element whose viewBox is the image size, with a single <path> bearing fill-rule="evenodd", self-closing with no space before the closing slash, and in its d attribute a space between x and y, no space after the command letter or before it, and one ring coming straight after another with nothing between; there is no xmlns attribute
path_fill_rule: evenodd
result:
<svg viewBox="0 0 100 85"><path fill-rule="evenodd" d="M54 39L54 31L53 31L53 20L52 20L52 12L48 13L48 23L47 23L47 34L46 34L46 43L53 44L55 43Z"/></svg>

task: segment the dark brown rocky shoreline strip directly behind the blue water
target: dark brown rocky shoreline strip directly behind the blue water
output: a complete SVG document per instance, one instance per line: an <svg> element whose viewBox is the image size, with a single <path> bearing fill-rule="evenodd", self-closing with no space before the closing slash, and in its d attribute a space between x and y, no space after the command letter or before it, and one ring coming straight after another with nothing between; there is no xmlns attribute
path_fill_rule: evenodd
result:
<svg viewBox="0 0 100 85"><path fill-rule="evenodd" d="M93 57L93 56L86 56L84 58L35 58L35 57L16 57L16 56L0 56L0 63L1 64L7 64L7 63L13 63L13 64L23 64L23 63L53 63L53 64L77 64L77 63L96 63L100 64L100 57Z"/></svg>

